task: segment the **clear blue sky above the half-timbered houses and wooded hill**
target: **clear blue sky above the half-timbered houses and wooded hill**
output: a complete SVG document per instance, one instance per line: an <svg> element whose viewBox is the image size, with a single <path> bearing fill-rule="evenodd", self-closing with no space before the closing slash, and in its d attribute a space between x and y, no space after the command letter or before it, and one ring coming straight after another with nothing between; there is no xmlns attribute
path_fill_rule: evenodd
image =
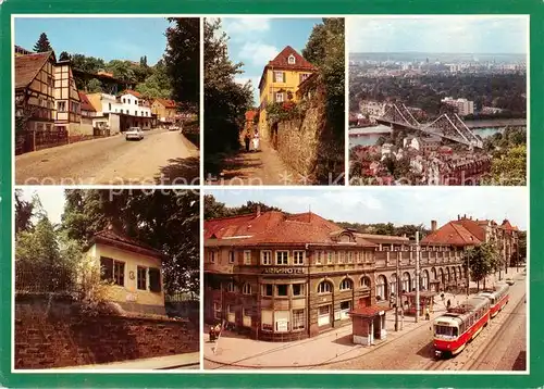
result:
<svg viewBox="0 0 544 389"><path fill-rule="evenodd" d="M57 57L62 51L104 61L139 61L154 65L164 53L169 22L164 17L17 17L15 45L33 50L46 33Z"/></svg>

